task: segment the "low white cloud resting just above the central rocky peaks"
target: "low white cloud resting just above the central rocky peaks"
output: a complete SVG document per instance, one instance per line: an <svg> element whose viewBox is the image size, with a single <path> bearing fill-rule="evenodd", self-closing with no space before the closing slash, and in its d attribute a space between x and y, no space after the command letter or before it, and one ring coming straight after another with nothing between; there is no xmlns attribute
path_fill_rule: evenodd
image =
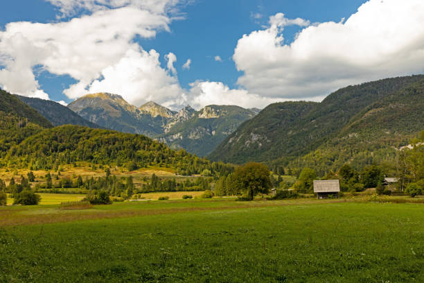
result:
<svg viewBox="0 0 424 283"><path fill-rule="evenodd" d="M261 97L249 94L245 89L230 89L220 82L198 80L191 83L191 106L195 109L206 105L239 105L242 108L265 108L266 105L276 102L275 98Z"/></svg>

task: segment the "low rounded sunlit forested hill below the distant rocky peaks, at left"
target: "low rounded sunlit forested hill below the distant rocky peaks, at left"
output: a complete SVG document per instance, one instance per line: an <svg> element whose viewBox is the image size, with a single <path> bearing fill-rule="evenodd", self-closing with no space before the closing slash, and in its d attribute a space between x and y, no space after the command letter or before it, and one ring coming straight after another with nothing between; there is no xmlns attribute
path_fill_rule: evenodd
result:
<svg viewBox="0 0 424 283"><path fill-rule="evenodd" d="M170 166L182 174L201 173L210 165L207 160L186 151L173 151L143 135L67 125L42 130L13 146L1 166L38 170L82 161L129 170L153 164Z"/></svg>

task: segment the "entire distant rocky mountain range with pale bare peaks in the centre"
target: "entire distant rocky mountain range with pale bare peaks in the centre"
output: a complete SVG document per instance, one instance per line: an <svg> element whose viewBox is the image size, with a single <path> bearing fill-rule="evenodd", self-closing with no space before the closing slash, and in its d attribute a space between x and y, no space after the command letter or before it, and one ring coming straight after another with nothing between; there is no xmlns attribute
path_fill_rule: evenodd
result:
<svg viewBox="0 0 424 283"><path fill-rule="evenodd" d="M150 101L139 108L117 94L87 94L68 107L81 117L105 128L147 135L172 148L207 155L257 110L233 105L191 106L175 112Z"/></svg>

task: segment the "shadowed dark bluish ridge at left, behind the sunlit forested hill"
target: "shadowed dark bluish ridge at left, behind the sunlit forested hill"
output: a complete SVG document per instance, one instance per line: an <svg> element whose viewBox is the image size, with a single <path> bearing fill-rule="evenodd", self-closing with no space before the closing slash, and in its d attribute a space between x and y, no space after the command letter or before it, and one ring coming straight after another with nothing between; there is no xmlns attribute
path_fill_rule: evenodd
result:
<svg viewBox="0 0 424 283"><path fill-rule="evenodd" d="M69 108L60 105L55 101L47 101L39 98L30 98L26 96L16 96L21 101L29 105L30 107L37 110L42 114L48 121L50 121L53 126L62 126L62 125L79 125L86 126L89 128L100 128L100 126L95 123L91 123L86 119L80 117L78 114L70 110Z"/></svg>

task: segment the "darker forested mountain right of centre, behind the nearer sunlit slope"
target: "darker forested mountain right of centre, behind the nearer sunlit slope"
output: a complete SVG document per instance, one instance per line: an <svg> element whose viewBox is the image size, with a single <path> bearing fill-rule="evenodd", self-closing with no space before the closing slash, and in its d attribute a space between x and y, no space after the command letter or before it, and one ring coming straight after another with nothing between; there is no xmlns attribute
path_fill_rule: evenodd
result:
<svg viewBox="0 0 424 283"><path fill-rule="evenodd" d="M337 137L366 107L423 78L388 78L344 87L321 103L272 104L243 123L209 157L224 162L277 160L287 164Z"/></svg>

